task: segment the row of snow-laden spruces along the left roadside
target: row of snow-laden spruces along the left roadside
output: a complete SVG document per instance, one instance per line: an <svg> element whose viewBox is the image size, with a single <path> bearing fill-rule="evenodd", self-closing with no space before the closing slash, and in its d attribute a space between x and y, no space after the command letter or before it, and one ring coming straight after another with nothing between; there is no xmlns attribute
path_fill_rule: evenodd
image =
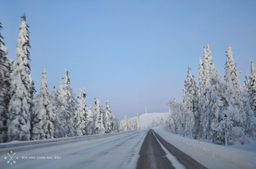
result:
<svg viewBox="0 0 256 169"><path fill-rule="evenodd" d="M49 94L43 68L40 94L34 96L29 33L23 16L15 62L8 58L0 34L0 142L119 132L120 120L112 116L109 101L105 102L104 110L95 99L92 112L84 101L84 89L80 89L78 100L75 98L66 69L64 84L60 81L59 89L54 87Z"/></svg>

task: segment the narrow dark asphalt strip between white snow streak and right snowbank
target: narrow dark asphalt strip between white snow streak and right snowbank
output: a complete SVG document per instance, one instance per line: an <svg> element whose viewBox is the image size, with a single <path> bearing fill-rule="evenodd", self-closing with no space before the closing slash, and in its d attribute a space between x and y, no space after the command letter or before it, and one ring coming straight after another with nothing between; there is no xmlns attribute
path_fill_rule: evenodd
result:
<svg viewBox="0 0 256 169"><path fill-rule="evenodd" d="M170 152L173 156L179 160L179 162L186 168L206 168L202 164L198 163L195 159L188 156L186 153L182 152L181 150L174 147L172 144L168 143L167 141L163 140L157 132L154 132L155 136L157 136L158 140L161 144Z"/></svg>

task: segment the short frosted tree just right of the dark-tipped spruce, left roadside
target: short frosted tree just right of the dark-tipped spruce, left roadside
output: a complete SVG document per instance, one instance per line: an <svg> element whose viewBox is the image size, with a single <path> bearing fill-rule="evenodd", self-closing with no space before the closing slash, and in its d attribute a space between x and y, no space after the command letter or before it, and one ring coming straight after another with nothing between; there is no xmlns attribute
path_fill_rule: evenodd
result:
<svg viewBox="0 0 256 169"><path fill-rule="evenodd" d="M91 106L86 106L86 133L87 135L94 134L94 116L91 112Z"/></svg>

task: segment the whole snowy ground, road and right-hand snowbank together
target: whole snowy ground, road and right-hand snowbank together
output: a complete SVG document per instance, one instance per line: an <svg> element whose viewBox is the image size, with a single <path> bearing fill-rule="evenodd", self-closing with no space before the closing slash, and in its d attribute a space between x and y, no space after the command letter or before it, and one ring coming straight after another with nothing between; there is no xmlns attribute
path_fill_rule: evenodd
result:
<svg viewBox="0 0 256 169"><path fill-rule="evenodd" d="M0 168L255 168L255 157L157 128L0 144Z"/></svg>

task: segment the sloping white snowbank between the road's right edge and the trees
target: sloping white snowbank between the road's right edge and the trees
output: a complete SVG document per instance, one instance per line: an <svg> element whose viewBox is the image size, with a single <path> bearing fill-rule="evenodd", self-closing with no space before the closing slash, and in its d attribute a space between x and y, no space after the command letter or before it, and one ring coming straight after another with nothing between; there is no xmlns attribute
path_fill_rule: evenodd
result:
<svg viewBox="0 0 256 169"><path fill-rule="evenodd" d="M197 140L165 132L159 127L155 127L154 131L164 140L208 168L255 168L256 166L255 152L207 142L198 144Z"/></svg>

